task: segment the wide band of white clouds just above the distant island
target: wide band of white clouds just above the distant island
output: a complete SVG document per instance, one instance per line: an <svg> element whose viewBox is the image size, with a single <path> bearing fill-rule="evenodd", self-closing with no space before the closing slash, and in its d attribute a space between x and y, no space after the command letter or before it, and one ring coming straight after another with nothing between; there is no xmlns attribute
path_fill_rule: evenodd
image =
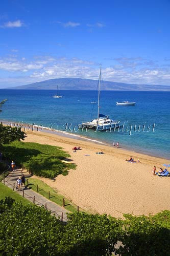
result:
<svg viewBox="0 0 170 256"><path fill-rule="evenodd" d="M136 84L164 84L170 86L170 67L154 66L155 61L141 57L116 58L115 65L103 66L103 80ZM148 64L144 64L148 61ZM11 72L17 76L18 72L23 84L26 81L42 81L61 77L80 77L98 79L99 63L79 58L54 56L35 56L31 61L22 57L8 56L0 58L0 70ZM20 74L19 74L20 75ZM8 80L8 79L7 79ZM11 81L11 80L10 80Z"/></svg>

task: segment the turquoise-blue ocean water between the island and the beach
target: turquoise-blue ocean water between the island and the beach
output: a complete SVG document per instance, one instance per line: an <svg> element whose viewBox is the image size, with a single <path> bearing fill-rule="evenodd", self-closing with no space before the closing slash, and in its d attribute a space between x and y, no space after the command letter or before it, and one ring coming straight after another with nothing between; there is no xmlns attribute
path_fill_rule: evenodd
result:
<svg viewBox="0 0 170 256"><path fill-rule="evenodd" d="M8 98L0 114L2 120L35 123L65 131L66 124L75 125L90 121L97 115L97 104L90 104L95 91L60 91L63 98L52 98L56 91L0 90L0 100ZM135 106L116 106L116 101L135 101ZM72 132L120 147L169 159L170 153L170 92L102 91L101 114L125 123L124 132L93 130ZM93 108L93 113L92 113ZM91 115L92 113L92 115ZM155 125L154 125L155 123ZM132 125L131 135L130 126ZM54 126L55 125L55 126ZM139 132L134 132L140 125ZM143 125L144 131L143 131ZM153 132L154 125L154 132ZM148 129L150 127L150 131ZM77 126L75 129L77 131ZM127 130L127 131L126 131ZM147 132L148 131L148 132ZM67 129L67 132L70 132Z"/></svg>

